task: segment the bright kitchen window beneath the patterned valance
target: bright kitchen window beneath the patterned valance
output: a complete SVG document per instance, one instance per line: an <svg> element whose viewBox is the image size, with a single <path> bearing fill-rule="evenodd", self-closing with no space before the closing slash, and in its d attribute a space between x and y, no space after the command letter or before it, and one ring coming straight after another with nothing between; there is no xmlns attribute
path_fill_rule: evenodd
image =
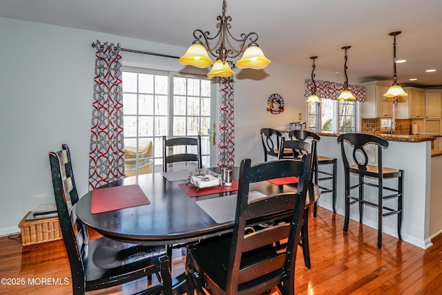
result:
<svg viewBox="0 0 442 295"><path fill-rule="evenodd" d="M320 104L307 104L308 129L322 133L356 132L354 101L321 99Z"/></svg>

